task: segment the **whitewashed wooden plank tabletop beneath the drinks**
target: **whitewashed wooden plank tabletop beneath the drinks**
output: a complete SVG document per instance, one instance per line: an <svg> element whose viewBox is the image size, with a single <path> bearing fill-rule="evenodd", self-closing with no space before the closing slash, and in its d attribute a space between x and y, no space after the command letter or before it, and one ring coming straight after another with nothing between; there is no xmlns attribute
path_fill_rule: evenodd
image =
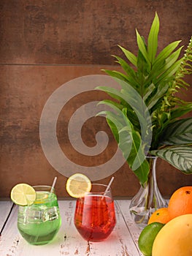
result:
<svg viewBox="0 0 192 256"><path fill-rule="evenodd" d="M131 222L129 200L115 200L117 224L111 235L101 242L85 241L74 227L75 200L59 200L62 225L50 244L28 244L17 227L18 207L0 201L1 256L141 256L137 240L141 230ZM13 207L12 207L13 206Z"/></svg>

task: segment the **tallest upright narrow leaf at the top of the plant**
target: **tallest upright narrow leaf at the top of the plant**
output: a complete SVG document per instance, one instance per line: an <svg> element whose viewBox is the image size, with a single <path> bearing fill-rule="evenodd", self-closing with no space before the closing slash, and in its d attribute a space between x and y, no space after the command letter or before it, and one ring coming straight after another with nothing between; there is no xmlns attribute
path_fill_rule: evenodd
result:
<svg viewBox="0 0 192 256"><path fill-rule="evenodd" d="M147 40L147 52L149 55L150 62L153 64L155 55L158 48L158 31L159 31L159 20L158 15L155 12L155 18L150 28L150 33Z"/></svg>

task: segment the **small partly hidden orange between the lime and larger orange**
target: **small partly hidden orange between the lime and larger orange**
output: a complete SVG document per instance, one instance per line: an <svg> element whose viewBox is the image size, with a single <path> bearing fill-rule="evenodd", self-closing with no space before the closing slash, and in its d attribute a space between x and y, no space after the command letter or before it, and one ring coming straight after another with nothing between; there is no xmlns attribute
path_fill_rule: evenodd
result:
<svg viewBox="0 0 192 256"><path fill-rule="evenodd" d="M148 224L153 222L160 222L166 224L167 222L169 222L169 220L170 217L167 208L159 208L158 210L154 211L153 214L151 214Z"/></svg>

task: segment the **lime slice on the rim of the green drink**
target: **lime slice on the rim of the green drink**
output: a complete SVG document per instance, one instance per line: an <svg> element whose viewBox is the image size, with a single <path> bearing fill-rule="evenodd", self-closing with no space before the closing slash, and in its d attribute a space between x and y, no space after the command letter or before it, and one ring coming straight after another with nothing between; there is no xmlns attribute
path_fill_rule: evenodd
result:
<svg viewBox="0 0 192 256"><path fill-rule="evenodd" d="M31 206L36 200L36 192L30 185L20 183L12 188L11 200L19 206Z"/></svg>

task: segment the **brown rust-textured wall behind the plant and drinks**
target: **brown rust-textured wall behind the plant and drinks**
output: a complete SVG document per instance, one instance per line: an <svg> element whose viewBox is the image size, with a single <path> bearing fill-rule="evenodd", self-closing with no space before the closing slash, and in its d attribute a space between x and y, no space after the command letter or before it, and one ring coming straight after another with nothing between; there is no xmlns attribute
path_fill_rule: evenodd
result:
<svg viewBox="0 0 192 256"><path fill-rule="evenodd" d="M51 184L54 176L58 176L58 196L67 196L66 177L47 162L39 140L39 119L48 97L69 80L102 74L101 68L117 69L112 67L115 63L111 57L120 55L117 45L136 53L135 28L146 37L155 11L161 23L159 49L177 39L187 45L191 10L192 2L182 0L1 0L0 197L8 197L19 182ZM188 80L191 82L191 78ZM102 95L85 94L69 104L58 129L79 102L94 97L101 99ZM191 89L184 98L191 100ZM62 144L74 161L88 166L104 162L116 146L104 118L96 120L82 131L82 138L93 145L96 130L107 130L110 148L100 157L82 157L67 143L66 149ZM159 159L158 184L163 195L170 195L177 187L192 184L192 178ZM138 188L137 179L124 164L115 173L114 195L132 196Z"/></svg>

